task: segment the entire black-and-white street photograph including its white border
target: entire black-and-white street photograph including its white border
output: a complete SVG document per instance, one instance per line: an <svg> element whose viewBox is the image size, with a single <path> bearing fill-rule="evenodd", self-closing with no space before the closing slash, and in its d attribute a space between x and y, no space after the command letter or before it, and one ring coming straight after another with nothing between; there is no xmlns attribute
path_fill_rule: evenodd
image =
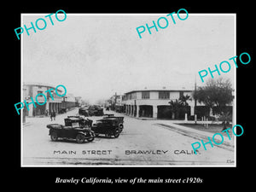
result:
<svg viewBox="0 0 256 192"><path fill-rule="evenodd" d="M60 9L20 26L20 166L236 167L236 14Z"/></svg>

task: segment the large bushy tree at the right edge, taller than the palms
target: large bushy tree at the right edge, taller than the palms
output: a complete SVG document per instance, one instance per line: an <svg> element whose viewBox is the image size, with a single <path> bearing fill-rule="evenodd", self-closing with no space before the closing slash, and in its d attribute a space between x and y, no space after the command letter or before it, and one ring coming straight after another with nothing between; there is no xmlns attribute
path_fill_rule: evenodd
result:
<svg viewBox="0 0 256 192"><path fill-rule="evenodd" d="M226 105L233 100L230 79L210 79L206 86L201 86L194 92L193 97L208 108L215 107L218 114L226 113Z"/></svg>

